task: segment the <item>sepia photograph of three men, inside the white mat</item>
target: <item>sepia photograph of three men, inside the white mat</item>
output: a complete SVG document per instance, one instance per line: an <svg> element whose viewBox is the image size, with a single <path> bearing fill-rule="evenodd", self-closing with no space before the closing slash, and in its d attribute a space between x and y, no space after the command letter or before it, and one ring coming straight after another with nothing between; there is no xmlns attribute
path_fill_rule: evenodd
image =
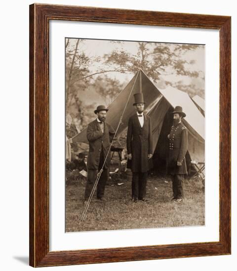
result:
<svg viewBox="0 0 237 271"><path fill-rule="evenodd" d="M205 225L205 45L65 38L65 231Z"/></svg>

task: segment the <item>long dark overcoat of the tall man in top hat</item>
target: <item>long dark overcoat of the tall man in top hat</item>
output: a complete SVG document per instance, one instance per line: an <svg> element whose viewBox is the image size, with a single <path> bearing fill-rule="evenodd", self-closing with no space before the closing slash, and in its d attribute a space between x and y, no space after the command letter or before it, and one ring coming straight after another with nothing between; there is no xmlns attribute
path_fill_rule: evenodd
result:
<svg viewBox="0 0 237 271"><path fill-rule="evenodd" d="M150 117L144 114L144 124L141 127L137 114L131 116L127 129L127 153L132 154L133 172L146 172L152 168L152 159L148 159L148 154L153 154L152 143Z"/></svg>

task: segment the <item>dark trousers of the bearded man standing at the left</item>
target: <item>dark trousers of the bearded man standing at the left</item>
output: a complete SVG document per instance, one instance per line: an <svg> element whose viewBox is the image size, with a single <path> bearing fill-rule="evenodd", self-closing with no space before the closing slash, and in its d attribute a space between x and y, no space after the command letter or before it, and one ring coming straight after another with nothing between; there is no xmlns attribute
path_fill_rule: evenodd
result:
<svg viewBox="0 0 237 271"><path fill-rule="evenodd" d="M103 164L104 164L104 155L103 155L103 151L101 151L98 170L88 169L87 171L87 181L86 181L85 196L84 196L85 200L88 200L90 193L93 189L93 186L95 184L97 173L98 171L100 171ZM108 179L108 169L103 168L103 172L101 173L98 184L97 184L97 193L96 193L97 199L101 199L104 196L105 185L106 185L107 179Z"/></svg>

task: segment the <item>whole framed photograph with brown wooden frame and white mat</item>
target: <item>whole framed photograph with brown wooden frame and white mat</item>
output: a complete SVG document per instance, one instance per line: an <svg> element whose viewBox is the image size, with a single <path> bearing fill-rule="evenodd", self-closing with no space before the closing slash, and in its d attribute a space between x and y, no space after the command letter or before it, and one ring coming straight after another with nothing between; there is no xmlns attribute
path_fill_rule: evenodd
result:
<svg viewBox="0 0 237 271"><path fill-rule="evenodd" d="M231 253L231 18L30 5L30 265Z"/></svg>

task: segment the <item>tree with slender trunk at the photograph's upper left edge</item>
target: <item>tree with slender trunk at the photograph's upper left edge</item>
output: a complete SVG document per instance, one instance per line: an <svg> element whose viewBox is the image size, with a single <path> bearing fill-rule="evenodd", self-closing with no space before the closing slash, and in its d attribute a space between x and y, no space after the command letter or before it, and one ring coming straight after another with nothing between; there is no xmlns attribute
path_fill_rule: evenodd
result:
<svg viewBox="0 0 237 271"><path fill-rule="evenodd" d="M106 73L109 71L118 71L118 69L105 69L103 65L100 66L96 72L91 72L90 67L95 63L101 62L100 57L89 57L83 51L83 39L67 38L65 40L66 50L66 113L70 114L72 119L77 123L77 129L84 127L84 112L87 110L81 102L81 90L86 90L88 86L93 85L96 91L103 94L109 101L113 100L114 96L121 91L119 88L119 81L105 76L98 79L95 75ZM96 82L95 82L96 81ZM98 82L101 84L98 84ZM103 82L104 81L104 82ZM103 85L103 87L102 87ZM105 88L108 93L105 93ZM69 128L70 129L70 128ZM74 129L75 130L75 129Z"/></svg>

